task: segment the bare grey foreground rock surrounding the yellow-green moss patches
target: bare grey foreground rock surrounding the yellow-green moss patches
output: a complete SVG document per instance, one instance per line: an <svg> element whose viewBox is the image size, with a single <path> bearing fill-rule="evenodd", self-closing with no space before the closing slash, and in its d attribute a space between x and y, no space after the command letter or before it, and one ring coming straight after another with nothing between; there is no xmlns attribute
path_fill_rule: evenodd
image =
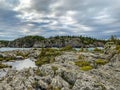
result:
<svg viewBox="0 0 120 90"><path fill-rule="evenodd" d="M120 90L120 54L109 54L107 64L89 71L75 64L79 55L85 61L108 58L102 54L65 52L54 63L21 71L8 70L0 79L0 90Z"/></svg>

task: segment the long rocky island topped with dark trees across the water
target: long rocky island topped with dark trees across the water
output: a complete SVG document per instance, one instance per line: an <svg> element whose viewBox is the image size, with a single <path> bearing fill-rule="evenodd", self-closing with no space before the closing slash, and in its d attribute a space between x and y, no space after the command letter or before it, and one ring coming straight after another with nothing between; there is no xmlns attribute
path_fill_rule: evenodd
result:
<svg viewBox="0 0 120 90"><path fill-rule="evenodd" d="M8 47L40 48L40 47L99 47L104 46L105 40L98 40L91 37L83 36L55 36L44 38L42 36L25 36L15 39L8 43Z"/></svg>

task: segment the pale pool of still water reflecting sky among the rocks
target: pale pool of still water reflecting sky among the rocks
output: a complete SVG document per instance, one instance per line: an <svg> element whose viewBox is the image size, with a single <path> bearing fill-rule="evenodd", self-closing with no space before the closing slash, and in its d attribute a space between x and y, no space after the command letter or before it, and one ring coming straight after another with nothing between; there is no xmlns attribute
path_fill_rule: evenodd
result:
<svg viewBox="0 0 120 90"><path fill-rule="evenodd" d="M5 62L4 64L11 65L13 69L22 70L29 67L36 67L35 62L30 59L21 61Z"/></svg>

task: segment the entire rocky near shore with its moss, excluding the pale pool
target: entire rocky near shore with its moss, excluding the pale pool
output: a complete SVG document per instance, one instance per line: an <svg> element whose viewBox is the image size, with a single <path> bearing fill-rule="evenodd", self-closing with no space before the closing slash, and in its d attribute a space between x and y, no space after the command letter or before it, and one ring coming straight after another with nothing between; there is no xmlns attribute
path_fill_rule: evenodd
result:
<svg viewBox="0 0 120 90"><path fill-rule="evenodd" d="M14 58L1 59L0 63L26 58L36 62L40 58L42 65L22 70L1 68L0 90L120 90L120 53L117 50L110 50L108 54L61 50L52 62L40 56L41 53L45 57L52 56L53 53L47 51L49 54L41 49L1 52L0 58Z"/></svg>

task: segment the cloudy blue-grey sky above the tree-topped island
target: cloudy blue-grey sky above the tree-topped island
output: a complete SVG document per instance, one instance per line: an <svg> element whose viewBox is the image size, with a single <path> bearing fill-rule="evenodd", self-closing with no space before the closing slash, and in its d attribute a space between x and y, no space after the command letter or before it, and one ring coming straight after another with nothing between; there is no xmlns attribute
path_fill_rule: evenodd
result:
<svg viewBox="0 0 120 90"><path fill-rule="evenodd" d="M120 0L0 0L0 40L27 35L120 38Z"/></svg>

